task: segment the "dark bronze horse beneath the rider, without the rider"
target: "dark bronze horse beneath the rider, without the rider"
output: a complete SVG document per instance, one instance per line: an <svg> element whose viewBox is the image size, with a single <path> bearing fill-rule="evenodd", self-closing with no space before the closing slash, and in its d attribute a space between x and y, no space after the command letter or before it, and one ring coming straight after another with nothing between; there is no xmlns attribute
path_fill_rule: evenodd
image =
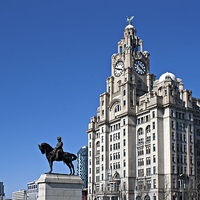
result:
<svg viewBox="0 0 200 200"><path fill-rule="evenodd" d="M74 165L72 163L72 161L77 159L77 156L72 154L72 153L68 153L68 152L63 152L63 155L60 158L57 158L55 160L55 153L53 152L53 148L47 144L47 143L42 143L39 146L39 149L41 151L42 154L46 154L46 158L49 162L49 166L50 166L50 171L49 173L52 172L53 170L53 161L63 161L70 169L70 175L74 175L75 170L74 170Z"/></svg>

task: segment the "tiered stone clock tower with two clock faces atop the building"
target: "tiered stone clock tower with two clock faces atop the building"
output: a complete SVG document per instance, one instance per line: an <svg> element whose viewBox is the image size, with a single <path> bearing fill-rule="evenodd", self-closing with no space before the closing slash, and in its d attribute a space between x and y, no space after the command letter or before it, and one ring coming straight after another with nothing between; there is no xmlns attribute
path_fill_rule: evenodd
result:
<svg viewBox="0 0 200 200"><path fill-rule="evenodd" d="M118 52L111 57L112 76L107 79L107 92L112 94L126 87L130 91L128 108L134 108L137 97L149 92L155 76L149 73L149 52L143 51L143 42L136 29L129 24L118 42ZM127 85L127 86L126 86Z"/></svg>

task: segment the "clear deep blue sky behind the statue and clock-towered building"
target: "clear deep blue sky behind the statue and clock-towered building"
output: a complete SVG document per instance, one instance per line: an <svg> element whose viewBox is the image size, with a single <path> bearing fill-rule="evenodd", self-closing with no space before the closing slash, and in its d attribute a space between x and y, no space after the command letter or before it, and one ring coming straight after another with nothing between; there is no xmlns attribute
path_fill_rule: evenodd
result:
<svg viewBox="0 0 200 200"><path fill-rule="evenodd" d="M126 16L150 52L200 97L199 0L0 0L0 181L6 197L49 170L37 144L87 145ZM74 164L76 164L74 162ZM54 172L69 173L62 163Z"/></svg>

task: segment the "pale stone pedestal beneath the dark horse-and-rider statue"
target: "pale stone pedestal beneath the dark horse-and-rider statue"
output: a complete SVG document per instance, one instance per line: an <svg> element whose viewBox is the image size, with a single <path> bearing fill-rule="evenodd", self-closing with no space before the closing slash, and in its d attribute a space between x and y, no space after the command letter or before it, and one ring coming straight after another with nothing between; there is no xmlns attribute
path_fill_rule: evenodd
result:
<svg viewBox="0 0 200 200"><path fill-rule="evenodd" d="M37 180L38 200L81 200L83 181L79 176L42 174Z"/></svg>

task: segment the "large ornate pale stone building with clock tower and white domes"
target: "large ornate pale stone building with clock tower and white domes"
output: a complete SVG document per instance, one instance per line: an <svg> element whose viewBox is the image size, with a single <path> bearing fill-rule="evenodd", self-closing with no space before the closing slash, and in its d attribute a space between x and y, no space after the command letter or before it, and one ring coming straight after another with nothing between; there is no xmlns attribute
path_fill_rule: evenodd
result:
<svg viewBox="0 0 200 200"><path fill-rule="evenodd" d="M126 26L88 125L90 200L195 198L200 100L172 73L156 80L149 56Z"/></svg>

